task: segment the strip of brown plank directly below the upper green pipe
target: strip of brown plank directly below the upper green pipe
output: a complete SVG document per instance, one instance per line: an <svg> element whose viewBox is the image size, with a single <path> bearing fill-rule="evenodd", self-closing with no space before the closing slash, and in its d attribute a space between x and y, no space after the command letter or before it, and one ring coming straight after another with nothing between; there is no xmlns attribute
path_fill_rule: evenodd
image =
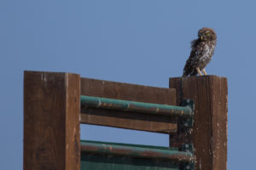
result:
<svg viewBox="0 0 256 170"><path fill-rule="evenodd" d="M177 117L88 108L82 111L80 122L154 133L175 133L176 119Z"/></svg>

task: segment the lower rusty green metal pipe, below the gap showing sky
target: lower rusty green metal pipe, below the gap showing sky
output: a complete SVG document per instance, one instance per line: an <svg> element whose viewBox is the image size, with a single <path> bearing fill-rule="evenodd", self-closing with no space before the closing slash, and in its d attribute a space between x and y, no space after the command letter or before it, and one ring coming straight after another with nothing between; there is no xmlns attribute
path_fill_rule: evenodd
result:
<svg viewBox="0 0 256 170"><path fill-rule="evenodd" d="M137 147L124 144L101 144L89 141L81 141L82 153L92 153L99 155L118 155L141 157L151 159L164 159L170 161L193 161L194 156L190 152L156 149L152 147Z"/></svg>

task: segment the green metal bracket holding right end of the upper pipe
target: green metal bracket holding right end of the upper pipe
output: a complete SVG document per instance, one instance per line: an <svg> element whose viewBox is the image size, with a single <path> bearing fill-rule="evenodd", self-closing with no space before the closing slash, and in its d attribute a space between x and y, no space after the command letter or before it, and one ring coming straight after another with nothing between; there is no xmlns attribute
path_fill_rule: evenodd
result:
<svg viewBox="0 0 256 170"><path fill-rule="evenodd" d="M192 99L183 99L181 106L186 106L189 107L189 109L192 110L192 114L194 115L194 109L195 109L195 104L194 104L194 100ZM189 116L189 117L184 117L183 118L183 127L193 127L193 123L194 123L194 116Z"/></svg>

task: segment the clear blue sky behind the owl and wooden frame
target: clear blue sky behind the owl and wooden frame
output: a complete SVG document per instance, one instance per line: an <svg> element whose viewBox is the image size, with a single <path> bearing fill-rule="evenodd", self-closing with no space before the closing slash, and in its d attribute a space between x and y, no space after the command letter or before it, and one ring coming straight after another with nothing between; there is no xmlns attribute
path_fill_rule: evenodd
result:
<svg viewBox="0 0 256 170"><path fill-rule="evenodd" d="M65 71L168 88L212 27L207 66L228 77L228 167L255 169L255 1L0 1L0 169L22 169L23 71ZM163 134L82 126L82 139L167 145Z"/></svg>

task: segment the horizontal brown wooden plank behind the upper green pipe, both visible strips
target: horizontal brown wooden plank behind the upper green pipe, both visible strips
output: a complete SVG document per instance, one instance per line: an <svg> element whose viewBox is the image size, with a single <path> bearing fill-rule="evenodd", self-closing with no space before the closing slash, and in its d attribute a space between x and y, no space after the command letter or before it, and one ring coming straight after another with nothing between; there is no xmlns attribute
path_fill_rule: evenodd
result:
<svg viewBox="0 0 256 170"><path fill-rule="evenodd" d="M154 88L122 82L81 78L81 95L176 105L175 89ZM129 111L82 108L81 123L122 127L155 133L175 133L177 117L154 116Z"/></svg>

